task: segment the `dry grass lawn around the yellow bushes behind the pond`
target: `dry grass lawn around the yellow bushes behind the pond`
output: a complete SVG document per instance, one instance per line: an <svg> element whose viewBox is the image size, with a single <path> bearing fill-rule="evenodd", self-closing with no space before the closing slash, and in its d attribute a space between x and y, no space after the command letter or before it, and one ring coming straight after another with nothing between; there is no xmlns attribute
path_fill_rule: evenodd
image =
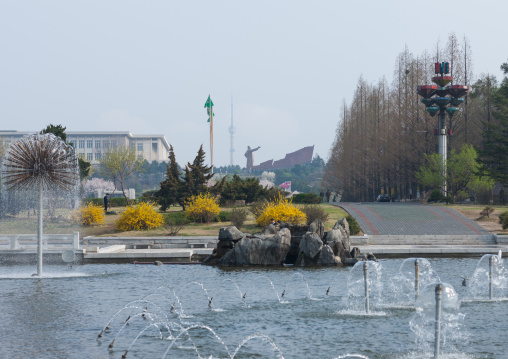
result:
<svg viewBox="0 0 508 359"><path fill-rule="evenodd" d="M320 204L328 213L328 220L325 222L325 231L330 230L335 222L342 219L347 214L340 208L329 204ZM80 237L102 236L102 237L156 237L169 235L168 228L162 226L157 229L126 231L121 232L116 229L116 220L125 207L113 207L111 211L117 214L107 214L104 223L89 227L80 227L71 225L68 220L59 222L44 221L44 233L72 233L80 232ZM171 207L169 212L180 211L181 207ZM221 208L223 211L232 211L232 208ZM164 213L162 213L164 215ZM63 218L69 217L69 211L60 210L57 215ZM231 222L211 222L211 223L190 223L185 225L177 236L218 236L221 227L230 226ZM262 228L256 225L254 215L249 212L247 220L240 228L242 232L256 234L262 231ZM19 233L37 233L37 217L31 215L27 218L27 213L22 212L17 216L11 216L0 220L0 233L19 234Z"/></svg>

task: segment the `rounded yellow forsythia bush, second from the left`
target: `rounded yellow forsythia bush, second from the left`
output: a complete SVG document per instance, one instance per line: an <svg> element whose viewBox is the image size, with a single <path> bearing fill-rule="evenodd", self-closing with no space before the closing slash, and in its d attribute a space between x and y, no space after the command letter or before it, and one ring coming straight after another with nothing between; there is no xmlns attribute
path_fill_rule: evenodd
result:
<svg viewBox="0 0 508 359"><path fill-rule="evenodd" d="M127 209L116 221L119 231L132 231L136 229L153 229L164 223L162 214L157 213L153 203L142 202Z"/></svg>

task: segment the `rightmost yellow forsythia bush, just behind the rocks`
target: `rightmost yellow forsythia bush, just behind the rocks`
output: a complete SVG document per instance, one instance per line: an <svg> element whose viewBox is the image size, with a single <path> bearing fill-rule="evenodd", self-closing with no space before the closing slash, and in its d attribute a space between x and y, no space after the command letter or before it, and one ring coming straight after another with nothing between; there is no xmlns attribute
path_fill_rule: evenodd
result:
<svg viewBox="0 0 508 359"><path fill-rule="evenodd" d="M268 202L263 207L263 212L256 218L258 226L267 226L271 219L290 224L305 224L307 217L291 201L279 194L274 202Z"/></svg>

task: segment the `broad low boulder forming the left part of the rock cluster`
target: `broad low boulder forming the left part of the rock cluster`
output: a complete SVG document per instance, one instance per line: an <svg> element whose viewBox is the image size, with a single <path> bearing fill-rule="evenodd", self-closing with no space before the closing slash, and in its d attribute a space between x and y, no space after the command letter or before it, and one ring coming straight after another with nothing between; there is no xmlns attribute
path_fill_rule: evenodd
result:
<svg viewBox="0 0 508 359"><path fill-rule="evenodd" d="M280 266L291 246L287 228L272 236L246 236L220 260L219 266Z"/></svg>

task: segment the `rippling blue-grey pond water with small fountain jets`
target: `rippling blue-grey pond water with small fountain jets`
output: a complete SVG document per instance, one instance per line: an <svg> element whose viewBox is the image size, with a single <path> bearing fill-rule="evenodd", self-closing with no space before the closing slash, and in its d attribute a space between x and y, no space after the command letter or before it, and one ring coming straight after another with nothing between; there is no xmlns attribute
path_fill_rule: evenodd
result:
<svg viewBox="0 0 508 359"><path fill-rule="evenodd" d="M489 301L462 286L478 259L428 265L458 298L451 312L443 309L439 358L507 358L504 289ZM415 310L407 266L369 262L364 315L358 268L109 264L46 266L37 278L31 267L4 266L0 357L433 358L432 321L418 301ZM419 301L429 296L425 280ZM405 288L409 296L393 295Z"/></svg>

